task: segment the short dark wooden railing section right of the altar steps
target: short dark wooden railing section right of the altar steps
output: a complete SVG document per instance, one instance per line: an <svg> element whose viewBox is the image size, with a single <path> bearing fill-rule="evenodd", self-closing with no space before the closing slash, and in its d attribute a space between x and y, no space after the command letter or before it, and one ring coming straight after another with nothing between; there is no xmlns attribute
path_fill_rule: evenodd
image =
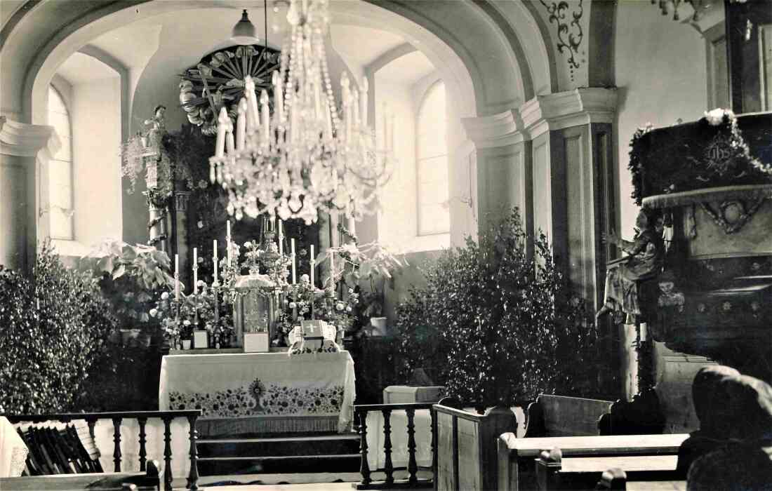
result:
<svg viewBox="0 0 772 491"><path fill-rule="evenodd" d="M356 414L357 421L359 422L359 435L360 435L360 453L361 453L361 467L360 472L362 480L357 485L357 489L380 489L389 488L397 489L401 487L431 487L432 480L418 479L418 462L415 458L416 443L415 443L415 411L416 410L429 410L429 414L432 418L432 476L436 476L436 424L435 415L432 411L431 402L418 402L407 404L371 404L371 405L355 405L354 412ZM371 479L373 471L380 469L370 469L370 465L367 462L367 454L370 449L367 448L367 413L371 411L378 411L384 417L384 472L386 479L382 483L375 483ZM394 467L391 462L391 412L392 411L405 411L408 418L407 431L408 431L408 466L407 467ZM372 431L374 428L370 428ZM378 449L373 449L378 452ZM394 479L395 470L407 470L408 479Z"/></svg>

